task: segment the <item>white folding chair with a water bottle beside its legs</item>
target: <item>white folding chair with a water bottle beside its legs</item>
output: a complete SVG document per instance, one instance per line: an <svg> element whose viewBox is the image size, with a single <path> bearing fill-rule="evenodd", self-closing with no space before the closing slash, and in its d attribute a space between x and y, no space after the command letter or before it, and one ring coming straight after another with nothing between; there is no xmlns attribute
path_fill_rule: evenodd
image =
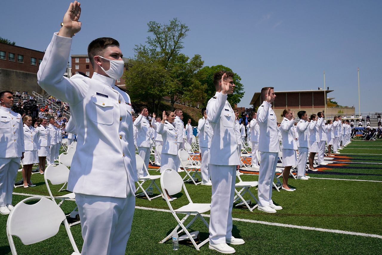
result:
<svg viewBox="0 0 382 255"><path fill-rule="evenodd" d="M194 247L196 250L200 250L200 247L202 247L204 244L206 244L209 241L209 238L206 240L202 241L200 244L196 244L194 237L197 237L197 234L199 234L199 231L196 232L188 232L188 228L194 223L194 221L197 218L200 218L203 223L207 226L207 229L209 229L209 225L207 221L203 218L201 215L202 213L206 213L207 211L211 210L211 204L210 203L194 203L191 198L188 195L186 185L184 184L182 177L173 169L166 169L165 171L162 172L160 175L160 186L162 188L163 194L166 194L166 191L168 195L172 196L175 195L179 192L181 192L182 188L184 190L184 193L186 194L186 197L188 199L188 205L184 205L178 209L173 209L170 201L168 200L167 195L165 195L165 200L167 202L168 208L170 209L172 215L176 219L176 222L178 222L178 225L175 227L171 233L165 237L162 241L160 241L160 244L163 244L166 242L168 239L172 238L172 233L174 231L177 231L178 234L181 232L185 232L185 236L180 236L179 240L185 240L189 239L193 243ZM186 214L186 216L183 219L180 219L177 215L177 213L180 214ZM186 219L191 215L195 215L194 218L187 224L187 226L184 225ZM178 229L181 228L180 231Z"/></svg>

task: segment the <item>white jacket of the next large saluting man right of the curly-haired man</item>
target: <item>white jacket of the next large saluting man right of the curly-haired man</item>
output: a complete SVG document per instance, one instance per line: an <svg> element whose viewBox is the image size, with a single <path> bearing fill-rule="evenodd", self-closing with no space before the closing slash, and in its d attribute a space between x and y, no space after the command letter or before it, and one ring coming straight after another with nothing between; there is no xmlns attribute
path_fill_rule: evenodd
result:
<svg viewBox="0 0 382 255"><path fill-rule="evenodd" d="M272 105L264 101L257 110L257 122L259 123L259 151L279 152L280 143L278 141L277 119Z"/></svg>

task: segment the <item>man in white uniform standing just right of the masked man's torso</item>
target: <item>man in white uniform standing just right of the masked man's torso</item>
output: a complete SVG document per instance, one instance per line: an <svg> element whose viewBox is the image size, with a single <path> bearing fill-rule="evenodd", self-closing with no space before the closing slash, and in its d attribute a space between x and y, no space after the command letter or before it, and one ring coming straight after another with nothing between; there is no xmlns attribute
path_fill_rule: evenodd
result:
<svg viewBox="0 0 382 255"><path fill-rule="evenodd" d="M138 154L144 161L146 168L149 168L150 161L150 124L147 120L147 116L149 116L149 111L146 106L141 107L141 114L139 114L138 118L134 121L134 126L137 127L138 135L137 135L137 147ZM142 169L137 169L138 178L144 177L147 175L146 171Z"/></svg>

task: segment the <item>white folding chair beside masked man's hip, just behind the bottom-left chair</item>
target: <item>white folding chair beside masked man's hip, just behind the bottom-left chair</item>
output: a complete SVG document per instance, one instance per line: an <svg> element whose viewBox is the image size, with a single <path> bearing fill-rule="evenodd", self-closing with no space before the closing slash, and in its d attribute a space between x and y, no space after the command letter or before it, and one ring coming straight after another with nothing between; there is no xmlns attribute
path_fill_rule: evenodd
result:
<svg viewBox="0 0 382 255"><path fill-rule="evenodd" d="M50 198L52 198L53 201L55 201L56 199L61 200L58 203L58 206L61 206L65 200L75 199L76 196L72 192L72 193L68 193L66 195L54 197L52 194L52 190L50 189L48 181L50 181L50 183L52 185L58 185L58 184L64 184L65 185L65 183L68 182L68 177L69 177L69 169L68 169L68 167L64 166L63 164L53 163L53 164L50 164L49 166L47 166L47 168L45 169L44 180L45 180L45 184L47 185L49 196L50 196ZM77 215L77 206L73 209L73 211L70 214L72 214L72 213L74 215ZM70 214L67 214L66 216L69 216ZM76 221L74 223L70 223L69 225L72 226L72 225L76 225L79 223L80 223L80 221Z"/></svg>

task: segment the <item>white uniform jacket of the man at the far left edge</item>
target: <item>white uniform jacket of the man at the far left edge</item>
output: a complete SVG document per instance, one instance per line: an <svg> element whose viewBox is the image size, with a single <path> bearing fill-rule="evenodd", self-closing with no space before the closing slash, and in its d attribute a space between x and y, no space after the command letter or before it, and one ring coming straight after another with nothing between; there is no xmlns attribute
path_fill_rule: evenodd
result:
<svg viewBox="0 0 382 255"><path fill-rule="evenodd" d="M21 115L0 107L0 158L19 158L24 149L24 129Z"/></svg>

